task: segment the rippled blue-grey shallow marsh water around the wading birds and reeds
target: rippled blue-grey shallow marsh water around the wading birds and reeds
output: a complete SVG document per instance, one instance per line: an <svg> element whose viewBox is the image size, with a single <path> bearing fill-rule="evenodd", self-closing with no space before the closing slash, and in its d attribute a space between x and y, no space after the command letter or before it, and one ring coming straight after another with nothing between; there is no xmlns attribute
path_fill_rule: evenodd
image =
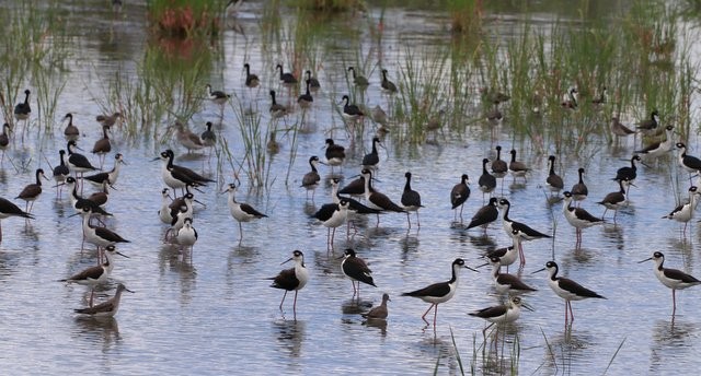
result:
<svg viewBox="0 0 701 376"><path fill-rule="evenodd" d="M267 90L277 90L278 101L286 104L295 103L297 94L278 85L272 69L276 61L265 58L271 46L260 37L263 4L246 5L239 13L235 27L223 31L221 43L212 47L220 48L221 58L210 82L214 89L234 94L235 101L250 106L253 113L261 113L267 127L272 121L267 114ZM600 5L602 13L608 11ZM111 283L99 289L97 299L112 295L118 282L135 292L125 293L114 318L78 317L73 308L88 304L89 289L57 282L95 265L92 246L81 250L80 220L70 216L73 212L65 193L57 199L45 184L43 196L34 204L35 220L3 220L2 373L429 374L437 367L439 374L460 374L462 366L466 373L622 375L698 369L701 291L696 289L701 287L677 293L673 319L670 290L657 281L652 262L637 263L659 250L667 257L666 266L701 275L698 257L701 232L696 220L682 234L680 224L662 219L677 204L676 197L685 197L688 188L687 173L678 166L675 152L658 163L641 166L637 187L631 188L630 204L619 212L617 223L609 216L606 224L586 228L577 249L574 228L563 216L562 203L547 200L543 188L547 153L537 152L528 140L514 136L508 118L495 130L482 121L471 121L464 133L445 130L413 145L392 142L390 127L384 149L380 149L376 188L399 201L404 173L411 171L413 188L421 192L425 207L420 211L421 227L414 214L411 228L404 214L382 214L379 225L370 216L358 224L358 233L350 237L346 237L345 226L338 228L333 249L326 248L326 228L310 214L331 201L331 188L322 184L311 200L299 186L309 169L309 156L323 155L324 140L330 136L348 148L341 173L334 172L344 177L344 183L358 174L360 160L369 152L376 127L366 120L363 134L350 139L340 130L343 120L337 104L347 92L345 68L355 61L357 54L350 51L344 39L348 23L376 22L380 11L370 5L352 21L343 16L324 21L326 34L314 46L324 51L315 70L322 90L307 114L307 129L297 134L297 151L290 152L290 133L279 132L280 152L266 162L271 176L267 188L252 187L246 174L239 172L242 185L237 195L239 201L268 215L244 223L240 243L227 196L219 193L225 184L233 181L232 165L245 164L235 106L225 106L220 119L219 107L204 102L202 110L188 122L196 132L204 130L205 121L216 122L218 137L227 139L232 165L218 161L216 155L209 157L207 151L186 155L174 136L161 142L151 133L127 137L119 129L113 131L113 150L124 154L127 165L111 193L107 209L114 218L106 220L106 224L131 243L118 247L129 258L116 260ZM492 22L484 27L499 28L504 38L517 33L519 20L525 17L510 13L509 9L493 12L487 16ZM70 79L58 99L56 126L48 137L37 130L30 130L24 140L15 137L0 169L0 196L15 197L24 185L33 181L35 168L48 171L46 158L51 165L57 163L57 151L66 146L60 124L65 113L73 113L83 149L89 151L102 136L94 117L103 108L95 97L104 96L104 87L115 71L138 79L137 66L147 48L145 13L146 4L130 1L125 1L117 15L107 1L79 1L69 7L66 16L84 24L76 30L70 47L74 58L69 60ZM417 56L430 54L435 40L449 33L447 15L433 9L391 7L382 11L382 64L391 78L397 78L404 59L423 59ZM539 10L532 16L548 25L575 15L556 9L552 13ZM283 20L294 22L284 16ZM365 40L363 37L360 40ZM367 37L360 44L361 54L377 59L378 52ZM699 57L694 58L698 61ZM285 58L280 56L277 61L285 62ZM244 62L250 62L262 77L261 90L243 85ZM371 84L364 102L370 108L381 105L388 109L388 97L379 90L379 70L374 62L367 67ZM25 84L35 89L30 80ZM278 120L277 127L287 128L299 121L300 116L297 110ZM476 110L464 116L479 117ZM629 116L625 120L631 124L637 119ZM608 124L606 119L601 121ZM168 125L156 126L159 134L163 134ZM698 154L693 134L688 144L690 153ZM604 208L595 202L617 190L610 178L619 167L629 164L627 160L640 148L641 140L636 137L610 144L601 134L588 142L589 150L596 152L586 156L560 154L563 161L559 172L568 188L576 183L576 169L586 167L589 198L582 205L600 215ZM499 196L507 197L513 204L510 216L555 236L552 240L524 244L526 266L521 271L513 266L510 272L520 273L526 283L538 289L524 297L535 312L524 312L502 331L504 337L497 351L492 334L486 342L487 351L483 352L485 322L467 314L502 302L486 269L479 273L461 272L455 297L439 305L435 330L426 328L421 319L428 304L400 294L448 280L450 263L457 257L475 267L484 262L482 255L486 249L510 244L501 221L486 231L486 236L481 230L466 231L456 225L449 202L450 189L467 173L473 184L472 196L464 205L466 221L483 204L475 184L481 174L480 162L494 157L496 144L507 151L518 150L519 160L532 168L527 183L514 183L508 176L503 183L503 193L501 186L497 188ZM192 260L183 257L177 246L163 243L166 226L157 215L163 181L161 164L152 158L168 148L179 155L176 163L218 179L196 192L206 207L195 207L194 226L199 238ZM288 167L291 154L295 157ZM112 166L113 155L107 156L106 167ZM223 167L218 169L220 164ZM322 181L327 181L331 169L321 166L320 174ZM673 184L677 180L682 184ZM19 200L15 202L23 207ZM347 247L355 248L367 260L378 285L377 289L363 285L355 298L337 259ZM288 268L280 262L294 249L304 252L311 275L299 292L296 318L291 312L292 295L288 294L284 312L278 310L283 291L271 289L267 280ZM552 259L559 262L564 275L606 296L574 302L575 321L568 329L564 326L564 302L548 286L545 273L532 274ZM386 325L367 325L359 313L379 304L382 293L391 297L389 318Z"/></svg>

